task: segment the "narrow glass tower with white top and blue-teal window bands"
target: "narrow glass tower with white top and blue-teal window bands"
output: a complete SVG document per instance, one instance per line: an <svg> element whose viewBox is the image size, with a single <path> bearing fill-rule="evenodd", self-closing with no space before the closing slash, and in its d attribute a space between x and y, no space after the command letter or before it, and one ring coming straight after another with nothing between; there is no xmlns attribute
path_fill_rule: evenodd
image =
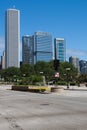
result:
<svg viewBox="0 0 87 130"><path fill-rule="evenodd" d="M64 62L66 60L66 46L64 38L54 39L54 57L55 59Z"/></svg>

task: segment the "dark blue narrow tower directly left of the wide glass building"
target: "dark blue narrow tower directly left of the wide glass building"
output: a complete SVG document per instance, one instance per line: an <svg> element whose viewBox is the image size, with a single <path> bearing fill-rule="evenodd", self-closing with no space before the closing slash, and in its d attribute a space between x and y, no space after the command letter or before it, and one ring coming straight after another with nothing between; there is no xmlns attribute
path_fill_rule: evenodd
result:
<svg viewBox="0 0 87 130"><path fill-rule="evenodd" d="M25 35L22 37L22 61L24 63L34 64L33 55L33 37Z"/></svg>

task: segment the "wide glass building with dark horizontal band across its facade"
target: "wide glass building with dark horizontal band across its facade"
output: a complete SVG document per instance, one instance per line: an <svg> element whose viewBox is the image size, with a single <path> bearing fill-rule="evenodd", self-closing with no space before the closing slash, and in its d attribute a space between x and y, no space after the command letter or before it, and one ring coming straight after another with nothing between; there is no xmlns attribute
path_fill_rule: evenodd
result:
<svg viewBox="0 0 87 130"><path fill-rule="evenodd" d="M37 61L49 62L53 59L52 35L47 32L34 34L34 64Z"/></svg>

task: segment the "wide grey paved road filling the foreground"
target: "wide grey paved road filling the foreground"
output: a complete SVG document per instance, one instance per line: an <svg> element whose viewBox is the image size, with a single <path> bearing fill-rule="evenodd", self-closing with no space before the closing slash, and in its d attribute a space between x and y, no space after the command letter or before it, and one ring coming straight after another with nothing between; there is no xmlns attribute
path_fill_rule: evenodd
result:
<svg viewBox="0 0 87 130"><path fill-rule="evenodd" d="M0 130L87 130L87 91L0 89Z"/></svg>

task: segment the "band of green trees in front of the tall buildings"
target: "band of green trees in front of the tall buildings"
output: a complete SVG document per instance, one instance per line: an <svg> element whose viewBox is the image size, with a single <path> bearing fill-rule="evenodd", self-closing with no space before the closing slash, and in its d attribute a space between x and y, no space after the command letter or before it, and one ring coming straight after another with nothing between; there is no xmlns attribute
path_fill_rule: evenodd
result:
<svg viewBox="0 0 87 130"><path fill-rule="evenodd" d="M69 71L66 68L70 68ZM59 76L55 79L55 70L53 61L39 61L35 65L22 64L20 68L10 67L0 71L1 78L9 82L19 82L19 84L37 84L43 81L45 76L46 82L55 81L71 82L77 80L77 69L69 62L60 62ZM68 76L68 77L67 77ZM79 77L80 79L80 77Z"/></svg>

